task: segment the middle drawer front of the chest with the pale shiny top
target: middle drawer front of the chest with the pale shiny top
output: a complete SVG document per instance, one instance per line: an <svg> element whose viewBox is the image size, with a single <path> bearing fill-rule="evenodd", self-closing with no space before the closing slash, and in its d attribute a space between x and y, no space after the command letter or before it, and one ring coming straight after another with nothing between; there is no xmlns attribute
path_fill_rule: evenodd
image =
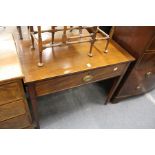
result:
<svg viewBox="0 0 155 155"><path fill-rule="evenodd" d="M0 106L0 121L4 121L26 113L23 100Z"/></svg>

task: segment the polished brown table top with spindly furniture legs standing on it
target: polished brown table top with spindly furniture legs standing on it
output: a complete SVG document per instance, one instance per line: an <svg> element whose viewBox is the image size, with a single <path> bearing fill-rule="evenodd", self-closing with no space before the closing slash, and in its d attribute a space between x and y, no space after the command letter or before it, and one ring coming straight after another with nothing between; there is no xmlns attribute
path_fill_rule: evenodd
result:
<svg viewBox="0 0 155 155"><path fill-rule="evenodd" d="M38 50L31 49L31 40L16 40L24 82L36 82L58 76L83 72L100 67L134 61L134 58L114 41L110 41L109 53L103 53L105 41L97 41L93 57L87 55L90 43L48 48L43 51L43 67L38 67Z"/></svg>

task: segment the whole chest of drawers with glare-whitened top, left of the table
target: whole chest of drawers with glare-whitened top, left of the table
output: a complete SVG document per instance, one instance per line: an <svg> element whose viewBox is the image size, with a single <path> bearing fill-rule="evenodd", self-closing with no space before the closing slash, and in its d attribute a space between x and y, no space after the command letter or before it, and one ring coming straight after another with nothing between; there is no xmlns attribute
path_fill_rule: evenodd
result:
<svg viewBox="0 0 155 155"><path fill-rule="evenodd" d="M30 128L23 74L11 34L0 36L0 129Z"/></svg>

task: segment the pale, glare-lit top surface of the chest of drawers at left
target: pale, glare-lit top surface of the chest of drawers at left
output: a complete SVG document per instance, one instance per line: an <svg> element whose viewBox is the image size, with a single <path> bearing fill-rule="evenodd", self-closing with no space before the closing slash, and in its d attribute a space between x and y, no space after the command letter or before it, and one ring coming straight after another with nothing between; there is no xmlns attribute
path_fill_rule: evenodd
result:
<svg viewBox="0 0 155 155"><path fill-rule="evenodd" d="M0 82L23 78L13 36L0 34Z"/></svg>

